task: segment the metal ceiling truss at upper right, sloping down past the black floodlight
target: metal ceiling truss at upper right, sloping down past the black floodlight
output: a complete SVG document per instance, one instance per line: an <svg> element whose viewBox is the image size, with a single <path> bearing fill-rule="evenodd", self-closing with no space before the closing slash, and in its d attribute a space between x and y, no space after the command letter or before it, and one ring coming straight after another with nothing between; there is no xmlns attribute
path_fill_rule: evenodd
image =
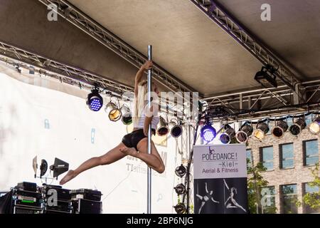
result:
<svg viewBox="0 0 320 228"><path fill-rule="evenodd" d="M282 81L286 86L292 89L299 98L303 98L303 95L299 92L299 79L294 76L294 74L284 66L280 58L270 51L260 41L257 41L254 36L245 31L245 28L240 26L228 13L222 9L214 0L190 0L195 4L198 9L203 11L215 24L218 24L220 28L223 28L235 41L240 43L247 51L249 51L257 60L259 60L264 65L271 65L277 72L277 78Z"/></svg>

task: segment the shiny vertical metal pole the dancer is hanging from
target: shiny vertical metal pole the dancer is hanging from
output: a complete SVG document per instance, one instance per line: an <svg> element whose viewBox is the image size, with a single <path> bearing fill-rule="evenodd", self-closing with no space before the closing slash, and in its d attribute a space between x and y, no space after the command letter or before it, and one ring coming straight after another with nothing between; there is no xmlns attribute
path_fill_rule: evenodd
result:
<svg viewBox="0 0 320 228"><path fill-rule="evenodd" d="M148 60L152 60L152 46L148 46ZM151 108L151 69L148 70L148 109ZM148 130L148 154L151 154L151 124L149 124ZM151 214L151 168L148 167L147 172L147 194L146 194L146 213Z"/></svg>

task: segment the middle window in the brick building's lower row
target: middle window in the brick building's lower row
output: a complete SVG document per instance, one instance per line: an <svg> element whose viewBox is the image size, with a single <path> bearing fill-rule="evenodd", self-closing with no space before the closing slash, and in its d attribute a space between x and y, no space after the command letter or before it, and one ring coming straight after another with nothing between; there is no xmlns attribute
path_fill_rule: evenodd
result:
<svg viewBox="0 0 320 228"><path fill-rule="evenodd" d="M282 214L297 214L297 185L281 185Z"/></svg>

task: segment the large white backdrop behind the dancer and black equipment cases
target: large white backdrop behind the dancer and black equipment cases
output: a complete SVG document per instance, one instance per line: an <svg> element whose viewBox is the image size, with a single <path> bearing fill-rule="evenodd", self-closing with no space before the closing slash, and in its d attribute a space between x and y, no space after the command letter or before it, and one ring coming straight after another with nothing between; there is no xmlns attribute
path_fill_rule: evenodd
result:
<svg viewBox="0 0 320 228"><path fill-rule="evenodd" d="M52 165L58 157L75 169L116 146L127 133L121 121L112 123L104 110L92 112L83 98L23 83L14 79L16 71L3 66L0 70L6 73L0 73L0 191L22 181L41 185L33 178L32 159L36 155L38 164L46 159ZM177 202L173 190L177 184L176 141L169 138L166 147L157 148L166 155L166 171L161 175L153 172L152 212L171 213ZM143 162L124 157L112 165L88 170L64 187L100 190L104 213L144 213L145 172ZM58 181L52 184L58 185Z"/></svg>

